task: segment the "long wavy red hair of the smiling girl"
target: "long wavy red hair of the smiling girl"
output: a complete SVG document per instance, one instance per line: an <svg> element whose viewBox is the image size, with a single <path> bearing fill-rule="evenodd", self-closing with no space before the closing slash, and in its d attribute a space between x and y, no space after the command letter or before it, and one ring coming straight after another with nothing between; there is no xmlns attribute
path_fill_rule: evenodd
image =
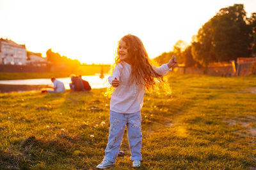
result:
<svg viewBox="0 0 256 170"><path fill-rule="evenodd" d="M152 68L150 64L150 60L148 59L148 53L137 36L133 36L128 34L121 38L125 41L128 47L128 57L127 60L129 64L131 64L131 82L136 81L139 85L145 85L145 87L150 90L154 89L154 78L157 78L158 81L163 81L163 76L157 74L156 71ZM119 43L118 43L119 47ZM117 47L117 52L118 52ZM117 53L115 58L115 64L119 64L121 62L120 56Z"/></svg>

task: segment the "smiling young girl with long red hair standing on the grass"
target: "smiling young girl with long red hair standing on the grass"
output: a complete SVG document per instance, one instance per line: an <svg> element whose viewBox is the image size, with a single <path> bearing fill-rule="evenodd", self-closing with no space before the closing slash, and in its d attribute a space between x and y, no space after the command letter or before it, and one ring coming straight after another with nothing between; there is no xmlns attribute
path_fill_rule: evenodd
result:
<svg viewBox="0 0 256 170"><path fill-rule="evenodd" d="M153 67L141 40L128 34L120 39L115 59L116 67L109 76L115 87L110 101L109 136L103 161L97 166L105 169L113 166L120 150L125 125L131 151L132 167L140 167L141 161L141 113L145 87L153 88L154 78L163 81L163 75L177 64L173 56L168 64Z"/></svg>

